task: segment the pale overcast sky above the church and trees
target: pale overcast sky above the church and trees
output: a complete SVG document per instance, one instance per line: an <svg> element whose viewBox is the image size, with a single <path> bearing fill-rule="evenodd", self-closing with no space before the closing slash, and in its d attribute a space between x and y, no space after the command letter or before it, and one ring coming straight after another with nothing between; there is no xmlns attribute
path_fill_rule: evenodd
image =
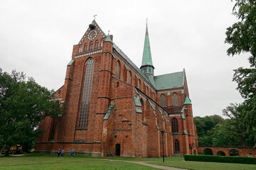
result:
<svg viewBox="0 0 256 170"><path fill-rule="evenodd" d="M194 116L222 115L242 98L233 69L248 54L228 57L225 29L237 21L230 0L6 1L0 0L0 68L16 69L41 86L64 84L73 45L96 21L138 67L146 18L155 75L186 70Z"/></svg>

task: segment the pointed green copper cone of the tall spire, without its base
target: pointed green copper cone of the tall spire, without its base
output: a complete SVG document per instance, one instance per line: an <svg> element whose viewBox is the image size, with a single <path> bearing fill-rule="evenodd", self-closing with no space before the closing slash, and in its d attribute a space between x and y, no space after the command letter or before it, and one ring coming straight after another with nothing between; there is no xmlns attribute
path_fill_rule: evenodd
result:
<svg viewBox="0 0 256 170"><path fill-rule="evenodd" d="M144 40L144 50L143 50L143 57L142 57L142 66L153 66L152 58L151 58L151 50L149 44L149 32L146 25L146 35Z"/></svg>

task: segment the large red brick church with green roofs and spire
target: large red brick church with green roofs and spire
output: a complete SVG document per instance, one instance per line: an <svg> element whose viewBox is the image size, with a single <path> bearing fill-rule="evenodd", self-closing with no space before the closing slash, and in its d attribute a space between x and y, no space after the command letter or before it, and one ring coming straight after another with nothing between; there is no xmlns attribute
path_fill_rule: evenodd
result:
<svg viewBox="0 0 256 170"><path fill-rule="evenodd" d="M102 157L197 154L185 70L155 76L154 69L147 26L139 68L92 21L51 99L65 103L67 113L41 121L35 150Z"/></svg>

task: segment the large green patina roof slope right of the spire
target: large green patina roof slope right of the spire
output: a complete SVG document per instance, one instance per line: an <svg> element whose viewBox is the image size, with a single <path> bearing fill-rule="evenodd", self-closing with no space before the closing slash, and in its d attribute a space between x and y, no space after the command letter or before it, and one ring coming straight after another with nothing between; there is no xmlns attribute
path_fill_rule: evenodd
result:
<svg viewBox="0 0 256 170"><path fill-rule="evenodd" d="M184 86L185 70L154 77L156 90L174 89Z"/></svg>

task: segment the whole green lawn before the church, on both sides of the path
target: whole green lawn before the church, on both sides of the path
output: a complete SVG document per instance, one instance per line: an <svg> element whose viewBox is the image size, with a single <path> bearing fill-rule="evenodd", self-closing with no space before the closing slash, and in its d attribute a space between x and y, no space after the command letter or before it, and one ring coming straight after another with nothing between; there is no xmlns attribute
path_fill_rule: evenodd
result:
<svg viewBox="0 0 256 170"><path fill-rule="evenodd" d="M116 161L108 161L105 159L114 159ZM27 154L22 157L0 157L0 169L154 169L149 166L139 164L131 164L126 161L146 162L149 164L159 164L164 166L173 166L183 169L256 169L256 165L252 164L228 164L216 162L185 162L183 157L166 157L165 162L161 158L144 158L135 159L127 157L107 157L95 158L88 156L78 156L72 159L70 155L64 158L57 158L55 155L49 154Z"/></svg>

